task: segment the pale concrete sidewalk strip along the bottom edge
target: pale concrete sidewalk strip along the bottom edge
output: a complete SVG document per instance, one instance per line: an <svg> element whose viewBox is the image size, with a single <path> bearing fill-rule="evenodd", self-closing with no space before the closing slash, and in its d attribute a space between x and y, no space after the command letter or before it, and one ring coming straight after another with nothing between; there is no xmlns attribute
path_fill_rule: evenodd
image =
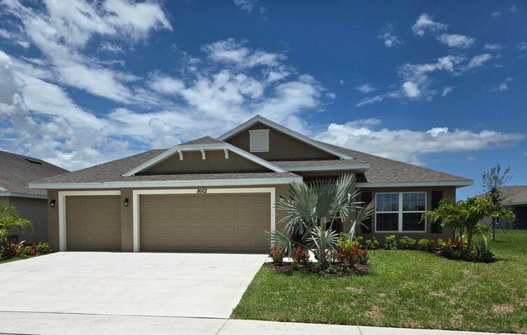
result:
<svg viewBox="0 0 527 335"><path fill-rule="evenodd" d="M171 318L136 315L1 312L0 334L17 335L479 335L436 329L405 329L293 322Z"/></svg>

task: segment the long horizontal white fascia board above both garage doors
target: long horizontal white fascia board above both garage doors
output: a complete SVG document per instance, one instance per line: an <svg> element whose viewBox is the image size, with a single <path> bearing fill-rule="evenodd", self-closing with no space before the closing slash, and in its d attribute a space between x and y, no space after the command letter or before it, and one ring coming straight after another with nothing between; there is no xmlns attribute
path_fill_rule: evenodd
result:
<svg viewBox="0 0 527 335"><path fill-rule="evenodd" d="M259 186L287 185L301 182L302 177L247 178L247 179L196 179L165 181L107 181L103 183L57 183L30 184L31 188L41 189L82 189L82 188L144 188L144 187L201 187L201 186Z"/></svg>

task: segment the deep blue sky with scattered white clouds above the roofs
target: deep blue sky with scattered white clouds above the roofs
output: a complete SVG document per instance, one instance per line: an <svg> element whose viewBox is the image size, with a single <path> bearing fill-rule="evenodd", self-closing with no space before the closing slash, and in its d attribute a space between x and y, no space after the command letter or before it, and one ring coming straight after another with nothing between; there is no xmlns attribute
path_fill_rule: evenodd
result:
<svg viewBox="0 0 527 335"><path fill-rule="evenodd" d="M0 149L78 169L254 114L527 184L523 1L4 0Z"/></svg>

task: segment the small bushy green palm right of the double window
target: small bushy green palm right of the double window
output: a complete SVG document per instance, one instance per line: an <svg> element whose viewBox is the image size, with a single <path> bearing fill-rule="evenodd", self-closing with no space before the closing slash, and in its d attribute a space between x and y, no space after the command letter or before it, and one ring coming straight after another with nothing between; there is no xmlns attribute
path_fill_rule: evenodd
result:
<svg viewBox="0 0 527 335"><path fill-rule="evenodd" d="M491 198L475 197L457 203L453 200L441 200L438 208L427 211L424 218L440 223L443 228L454 228L454 234L458 234L461 239L466 236L468 243L466 253L470 255L472 237L479 231L478 223L484 218L503 218L511 222L514 221L515 216L502 204L495 204Z"/></svg>

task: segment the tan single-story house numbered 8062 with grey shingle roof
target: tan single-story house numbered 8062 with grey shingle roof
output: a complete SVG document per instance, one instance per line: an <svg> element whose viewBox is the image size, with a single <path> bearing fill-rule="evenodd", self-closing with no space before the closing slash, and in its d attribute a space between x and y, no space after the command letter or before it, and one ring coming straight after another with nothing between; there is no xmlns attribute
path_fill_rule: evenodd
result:
<svg viewBox="0 0 527 335"><path fill-rule="evenodd" d="M396 148L394 148L396 150ZM202 137L31 184L48 191L59 250L266 252L294 181L356 174L371 230L442 236L421 214L472 180L317 142L260 116ZM349 223L343 223L349 226ZM447 232L448 233L448 232ZM363 234L369 236L363 230Z"/></svg>

